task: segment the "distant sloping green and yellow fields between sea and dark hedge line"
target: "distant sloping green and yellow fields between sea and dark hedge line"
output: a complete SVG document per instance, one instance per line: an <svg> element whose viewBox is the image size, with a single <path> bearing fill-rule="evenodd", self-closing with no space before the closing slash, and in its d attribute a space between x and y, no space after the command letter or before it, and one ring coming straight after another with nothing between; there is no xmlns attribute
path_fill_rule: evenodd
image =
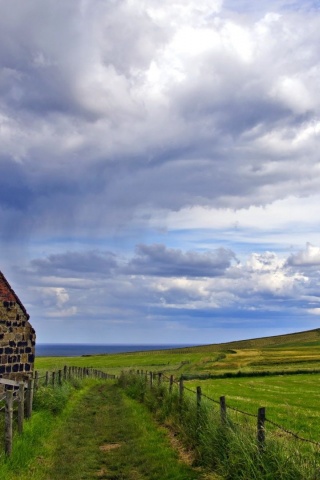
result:
<svg viewBox="0 0 320 480"><path fill-rule="evenodd" d="M144 369L181 374L320 370L320 329L263 339L199 347L83 357L38 357L36 369L64 365L98 368L109 373Z"/></svg>

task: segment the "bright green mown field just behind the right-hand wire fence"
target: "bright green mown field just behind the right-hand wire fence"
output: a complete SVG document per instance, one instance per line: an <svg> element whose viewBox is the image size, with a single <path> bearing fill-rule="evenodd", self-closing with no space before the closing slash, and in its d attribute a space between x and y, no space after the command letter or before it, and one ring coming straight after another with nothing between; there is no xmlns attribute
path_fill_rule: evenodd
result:
<svg viewBox="0 0 320 480"><path fill-rule="evenodd" d="M259 407L266 407L270 420L320 442L319 381L320 375L312 374L193 380L185 384L193 390L201 386L204 394L216 400L225 396L228 405L252 414L256 414ZM231 411L229 414L234 417ZM267 428L272 429L268 424Z"/></svg>

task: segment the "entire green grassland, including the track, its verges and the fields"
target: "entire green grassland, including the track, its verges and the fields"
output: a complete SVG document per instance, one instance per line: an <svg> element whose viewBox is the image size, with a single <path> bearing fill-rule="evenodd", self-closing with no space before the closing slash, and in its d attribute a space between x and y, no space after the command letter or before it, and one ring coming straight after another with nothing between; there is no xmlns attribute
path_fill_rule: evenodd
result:
<svg viewBox="0 0 320 480"><path fill-rule="evenodd" d="M12 457L0 454L1 478L156 480L161 471L161 478L170 480L320 479L316 445L267 423L261 454L256 437L257 409L266 407L267 419L306 439L320 440L319 329L174 350L38 357L35 369L43 382L44 372L65 365L92 367L119 379L38 388L34 415L15 438ZM161 372L162 382L155 380L150 389L146 372ZM175 379L171 393L170 375ZM225 425L218 404L222 395L227 403ZM170 443L172 436L175 445ZM191 455L191 463L181 463L181 451Z"/></svg>

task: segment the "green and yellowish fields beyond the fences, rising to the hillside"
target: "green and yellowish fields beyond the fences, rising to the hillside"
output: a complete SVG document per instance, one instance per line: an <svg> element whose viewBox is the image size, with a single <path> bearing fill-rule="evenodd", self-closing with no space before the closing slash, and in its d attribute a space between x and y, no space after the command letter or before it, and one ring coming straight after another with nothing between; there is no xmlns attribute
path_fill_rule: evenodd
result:
<svg viewBox="0 0 320 480"><path fill-rule="evenodd" d="M320 441L320 329L174 350L36 360L40 371L64 365L88 366L116 375L143 370L176 379L183 376L191 389L201 386L203 393L217 400L224 395L231 407L252 414L266 407L274 422ZM301 371L305 373L297 374ZM223 375L234 378L219 378Z"/></svg>

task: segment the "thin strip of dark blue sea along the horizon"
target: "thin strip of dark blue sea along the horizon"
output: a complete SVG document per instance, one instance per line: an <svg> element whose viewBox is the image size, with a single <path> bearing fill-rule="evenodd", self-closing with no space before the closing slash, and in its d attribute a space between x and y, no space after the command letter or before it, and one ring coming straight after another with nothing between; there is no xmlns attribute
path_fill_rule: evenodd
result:
<svg viewBox="0 0 320 480"><path fill-rule="evenodd" d="M192 345L96 345L85 343L38 343L37 357L81 357L108 353L141 352L149 350L166 350L169 348L191 347Z"/></svg>

